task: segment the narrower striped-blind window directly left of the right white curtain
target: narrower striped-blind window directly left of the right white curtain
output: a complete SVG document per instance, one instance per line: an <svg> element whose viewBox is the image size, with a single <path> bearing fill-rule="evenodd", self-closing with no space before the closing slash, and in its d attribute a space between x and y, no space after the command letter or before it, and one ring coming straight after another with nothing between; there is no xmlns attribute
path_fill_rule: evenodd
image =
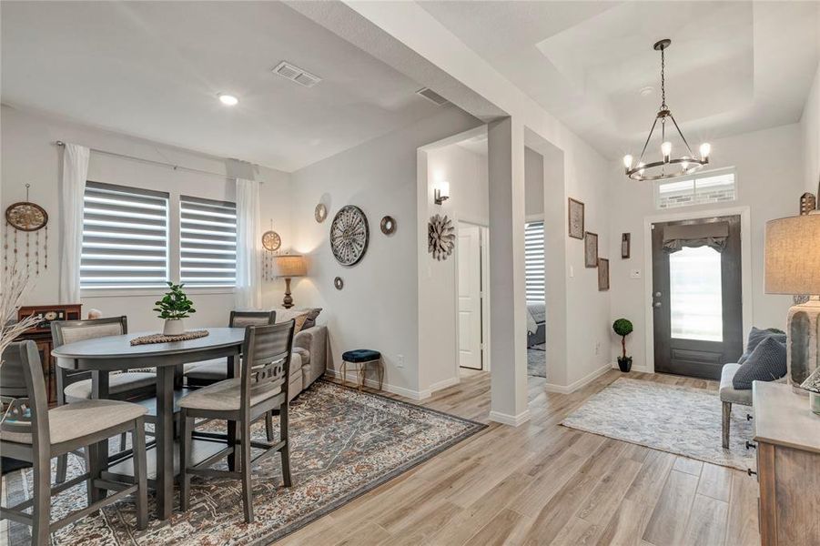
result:
<svg viewBox="0 0 820 546"><path fill-rule="evenodd" d="M236 203L179 197L179 278L188 286L236 286Z"/></svg>

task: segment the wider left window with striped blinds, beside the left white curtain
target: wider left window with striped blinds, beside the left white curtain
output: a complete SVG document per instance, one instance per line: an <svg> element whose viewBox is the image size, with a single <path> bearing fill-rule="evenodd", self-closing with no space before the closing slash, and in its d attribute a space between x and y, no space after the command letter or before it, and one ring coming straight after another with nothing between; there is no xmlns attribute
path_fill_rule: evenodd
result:
<svg viewBox="0 0 820 546"><path fill-rule="evenodd" d="M86 182L80 287L163 287L167 279L168 194Z"/></svg>

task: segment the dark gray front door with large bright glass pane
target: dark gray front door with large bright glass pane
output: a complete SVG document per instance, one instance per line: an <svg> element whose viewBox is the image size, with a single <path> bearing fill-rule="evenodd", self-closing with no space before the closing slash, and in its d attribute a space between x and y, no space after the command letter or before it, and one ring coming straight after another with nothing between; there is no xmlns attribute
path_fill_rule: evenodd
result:
<svg viewBox="0 0 820 546"><path fill-rule="evenodd" d="M739 216L653 224L655 371L720 379L740 357L740 238Z"/></svg>

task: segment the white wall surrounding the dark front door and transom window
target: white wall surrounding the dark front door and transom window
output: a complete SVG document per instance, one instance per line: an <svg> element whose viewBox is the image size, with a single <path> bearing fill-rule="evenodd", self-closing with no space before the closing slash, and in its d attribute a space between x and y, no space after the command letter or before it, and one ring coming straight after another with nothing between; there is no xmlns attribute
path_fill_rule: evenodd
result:
<svg viewBox="0 0 820 546"><path fill-rule="evenodd" d="M772 218L797 214L799 198L804 191L801 159L800 127L775 127L741 136L724 138L712 143L709 168L735 167L737 201L720 205L679 207L668 211L654 207L653 183L635 182L623 176L623 167L613 163L608 204L610 215L609 242L612 273L612 320L625 317L633 321L634 332L627 339L627 351L634 357L634 366L643 369L647 355L644 344L646 321L651 312L646 300L648 287L643 269L643 218L682 213L701 213L715 208L749 207L751 216L752 251L752 320L755 326L785 328L786 311L791 304L788 296L764 293L765 222ZM775 158L773 160L773 158ZM631 258L621 258L621 233L632 233ZM630 278L630 269L642 271L641 279ZM611 338L612 360L620 353L620 339Z"/></svg>

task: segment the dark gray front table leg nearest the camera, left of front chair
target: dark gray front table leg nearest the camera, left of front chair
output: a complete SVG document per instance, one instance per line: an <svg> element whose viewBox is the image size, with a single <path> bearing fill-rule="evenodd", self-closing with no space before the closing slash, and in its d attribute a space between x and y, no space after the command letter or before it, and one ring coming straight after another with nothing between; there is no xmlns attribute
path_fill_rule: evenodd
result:
<svg viewBox="0 0 820 546"><path fill-rule="evenodd" d="M157 366L157 518L174 509L174 367Z"/></svg>

